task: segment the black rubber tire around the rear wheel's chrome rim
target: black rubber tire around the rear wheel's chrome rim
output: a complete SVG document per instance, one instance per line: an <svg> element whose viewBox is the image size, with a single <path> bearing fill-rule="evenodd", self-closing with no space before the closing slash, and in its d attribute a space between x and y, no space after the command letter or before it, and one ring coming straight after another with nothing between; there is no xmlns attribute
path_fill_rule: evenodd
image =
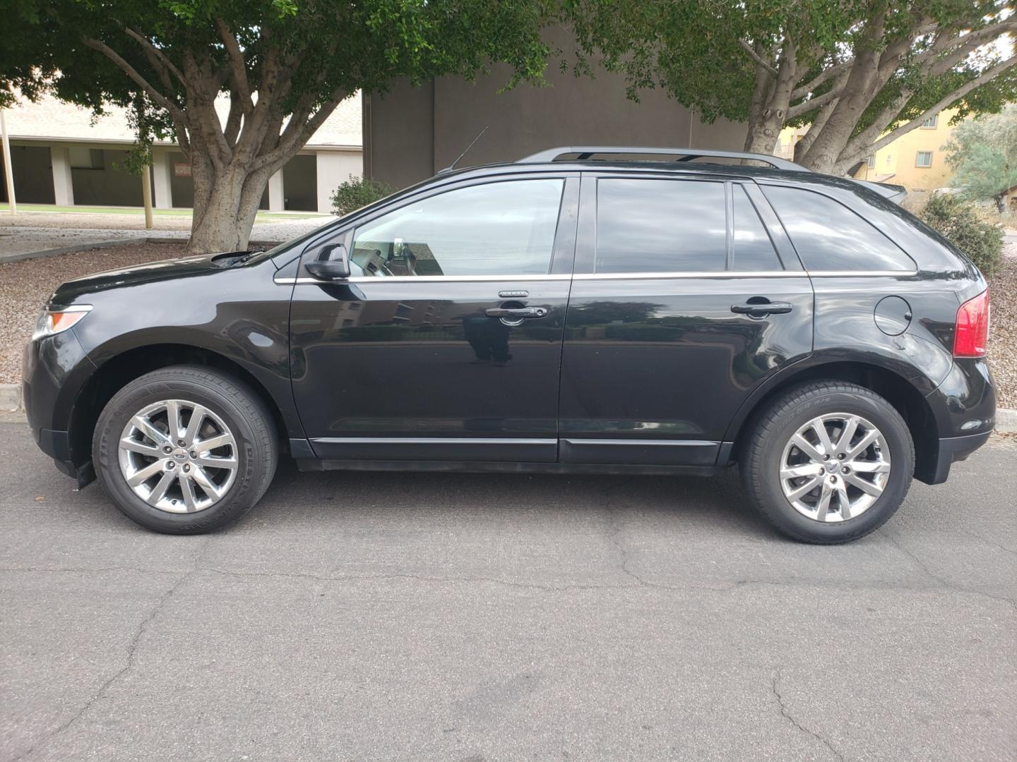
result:
<svg viewBox="0 0 1017 762"><path fill-rule="evenodd" d="M823 522L802 515L784 496L779 477L784 446L818 416L860 416L882 432L892 468L883 494L859 515ZM740 458L741 479L756 508L778 530L795 539L835 545L863 537L900 507L914 472L914 443L900 414L879 394L844 381L815 381L793 387L757 418Z"/></svg>

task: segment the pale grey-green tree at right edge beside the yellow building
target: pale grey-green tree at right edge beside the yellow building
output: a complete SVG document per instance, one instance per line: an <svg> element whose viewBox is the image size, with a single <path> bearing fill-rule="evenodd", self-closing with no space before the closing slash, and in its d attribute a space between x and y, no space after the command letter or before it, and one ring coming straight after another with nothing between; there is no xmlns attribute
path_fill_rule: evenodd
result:
<svg viewBox="0 0 1017 762"><path fill-rule="evenodd" d="M991 198L1006 211L1007 191L1017 185L1017 106L957 125L946 151L964 196Z"/></svg>

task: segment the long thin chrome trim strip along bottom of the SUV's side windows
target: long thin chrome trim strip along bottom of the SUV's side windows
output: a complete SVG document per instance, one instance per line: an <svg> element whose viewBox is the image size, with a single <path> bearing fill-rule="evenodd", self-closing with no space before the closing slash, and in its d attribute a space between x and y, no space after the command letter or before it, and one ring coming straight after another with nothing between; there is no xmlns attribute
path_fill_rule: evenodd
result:
<svg viewBox="0 0 1017 762"><path fill-rule="evenodd" d="M319 280L316 277L276 277L279 285L335 285L338 283L414 283L414 282L503 282L506 280L668 280L675 278L739 277L914 277L917 270L712 270L702 272L577 272L555 275L391 275L356 276L343 280Z"/></svg>

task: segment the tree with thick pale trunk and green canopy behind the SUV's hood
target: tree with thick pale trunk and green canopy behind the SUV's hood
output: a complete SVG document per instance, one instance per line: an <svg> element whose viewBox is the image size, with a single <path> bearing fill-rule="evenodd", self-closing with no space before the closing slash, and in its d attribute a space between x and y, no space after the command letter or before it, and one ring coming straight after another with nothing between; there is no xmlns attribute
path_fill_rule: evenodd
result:
<svg viewBox="0 0 1017 762"><path fill-rule="evenodd" d="M358 89L471 77L488 62L510 64L513 83L539 79L548 52L543 0L11 4L0 93L129 106L142 152L175 137L194 182L192 252L246 248L268 178Z"/></svg>

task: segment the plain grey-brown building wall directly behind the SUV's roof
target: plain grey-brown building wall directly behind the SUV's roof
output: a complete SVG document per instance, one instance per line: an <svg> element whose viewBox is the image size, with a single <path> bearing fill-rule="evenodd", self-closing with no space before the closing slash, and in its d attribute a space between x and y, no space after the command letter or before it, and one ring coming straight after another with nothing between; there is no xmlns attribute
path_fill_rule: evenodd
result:
<svg viewBox="0 0 1017 762"><path fill-rule="evenodd" d="M566 50L558 31L552 46ZM498 92L507 69L495 67L475 83L441 77L412 87L403 82L364 103L364 172L397 187L424 180L452 164L487 131L460 166L514 162L556 145L637 145L741 150L745 126L699 117L660 89L625 98L624 77L562 73L552 62L550 86L521 84Z"/></svg>

